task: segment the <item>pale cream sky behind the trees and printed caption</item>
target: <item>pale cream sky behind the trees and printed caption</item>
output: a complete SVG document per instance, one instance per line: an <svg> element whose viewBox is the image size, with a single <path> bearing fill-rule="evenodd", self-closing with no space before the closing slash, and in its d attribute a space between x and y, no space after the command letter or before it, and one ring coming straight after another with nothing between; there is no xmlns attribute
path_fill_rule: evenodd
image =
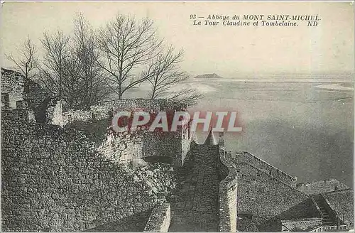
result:
<svg viewBox="0 0 355 233"><path fill-rule="evenodd" d="M350 2L6 2L1 9L1 65L4 53L30 36L40 48L44 31L70 33L75 13L94 28L117 13L155 21L165 43L185 50L182 69L192 75L242 73L354 72L354 6ZM191 14L315 15L318 26L193 26Z"/></svg>

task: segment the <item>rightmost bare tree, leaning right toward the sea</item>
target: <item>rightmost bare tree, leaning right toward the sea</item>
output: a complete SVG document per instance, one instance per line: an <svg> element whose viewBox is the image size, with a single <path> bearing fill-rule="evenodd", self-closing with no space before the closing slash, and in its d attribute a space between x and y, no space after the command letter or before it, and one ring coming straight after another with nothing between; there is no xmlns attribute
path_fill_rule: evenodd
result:
<svg viewBox="0 0 355 233"><path fill-rule="evenodd" d="M188 79L186 72L180 69L183 51L174 53L174 48L170 46L166 52L160 52L155 59L151 61L150 70L152 75L148 79L151 84L151 99L165 97L170 102L185 103L195 105L202 97L202 94L191 88L184 88L174 92L172 87Z"/></svg>

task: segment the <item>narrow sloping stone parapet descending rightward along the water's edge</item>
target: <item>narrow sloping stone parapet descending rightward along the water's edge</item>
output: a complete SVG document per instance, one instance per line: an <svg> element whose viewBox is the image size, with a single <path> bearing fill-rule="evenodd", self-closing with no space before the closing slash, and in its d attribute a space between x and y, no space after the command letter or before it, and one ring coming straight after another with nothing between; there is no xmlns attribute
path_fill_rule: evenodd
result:
<svg viewBox="0 0 355 233"><path fill-rule="evenodd" d="M235 161L237 163L249 163L251 166L258 168L259 170L263 170L263 172L268 173L274 178L282 180L283 182L288 183L290 185L294 185L297 180L295 177L284 173L282 170L275 168L271 164L266 163L266 161L263 161L248 152L236 153Z"/></svg>

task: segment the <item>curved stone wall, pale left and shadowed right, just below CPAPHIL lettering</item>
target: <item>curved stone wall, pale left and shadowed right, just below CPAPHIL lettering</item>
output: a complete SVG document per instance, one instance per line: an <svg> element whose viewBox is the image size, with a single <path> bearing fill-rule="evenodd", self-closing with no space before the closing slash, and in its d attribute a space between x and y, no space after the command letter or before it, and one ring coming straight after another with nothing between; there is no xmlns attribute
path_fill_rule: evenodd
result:
<svg viewBox="0 0 355 233"><path fill-rule="evenodd" d="M111 132L107 133L98 151L117 162L125 163L143 159L147 162L162 161L174 166L182 166L187 151L190 149L190 139L183 139L183 136L185 134L181 131Z"/></svg>

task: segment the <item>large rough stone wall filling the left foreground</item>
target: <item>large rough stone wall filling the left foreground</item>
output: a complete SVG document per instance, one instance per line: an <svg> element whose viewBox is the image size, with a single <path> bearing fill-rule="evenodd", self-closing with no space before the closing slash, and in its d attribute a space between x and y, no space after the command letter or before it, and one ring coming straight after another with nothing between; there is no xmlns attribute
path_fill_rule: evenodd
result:
<svg viewBox="0 0 355 233"><path fill-rule="evenodd" d="M173 188L169 166L129 168L75 129L1 114L1 227L82 231L151 210ZM148 216L147 216L148 218Z"/></svg>

